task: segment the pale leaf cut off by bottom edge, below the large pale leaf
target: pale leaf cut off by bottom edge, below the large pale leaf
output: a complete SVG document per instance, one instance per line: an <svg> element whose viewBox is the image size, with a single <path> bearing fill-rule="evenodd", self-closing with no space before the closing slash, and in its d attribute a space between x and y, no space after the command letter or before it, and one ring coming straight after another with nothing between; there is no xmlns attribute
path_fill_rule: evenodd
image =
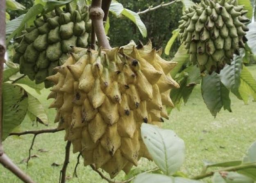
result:
<svg viewBox="0 0 256 183"><path fill-rule="evenodd" d="M166 175L160 174L139 174L133 183L174 183L174 180Z"/></svg>

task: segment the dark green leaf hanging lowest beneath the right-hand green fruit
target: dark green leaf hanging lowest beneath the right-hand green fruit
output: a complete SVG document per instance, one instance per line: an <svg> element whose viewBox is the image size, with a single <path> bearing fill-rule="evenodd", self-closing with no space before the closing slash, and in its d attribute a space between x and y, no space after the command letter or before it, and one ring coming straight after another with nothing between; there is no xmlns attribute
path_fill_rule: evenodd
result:
<svg viewBox="0 0 256 183"><path fill-rule="evenodd" d="M204 103L213 116L216 116L222 107L231 112L229 90L220 81L220 75L214 72L202 77L201 91Z"/></svg>

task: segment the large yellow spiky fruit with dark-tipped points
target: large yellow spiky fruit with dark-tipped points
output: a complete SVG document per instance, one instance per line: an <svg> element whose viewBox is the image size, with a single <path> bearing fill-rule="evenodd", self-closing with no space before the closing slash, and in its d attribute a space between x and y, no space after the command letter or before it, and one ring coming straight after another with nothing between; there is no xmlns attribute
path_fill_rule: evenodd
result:
<svg viewBox="0 0 256 183"><path fill-rule="evenodd" d="M134 42L100 51L74 47L47 78L55 83L48 97L55 98L55 122L66 130L73 152L82 152L85 166L95 164L113 178L140 157L152 159L140 126L161 125L166 106L173 107L170 89L179 87L169 74L177 62L160 54L150 43L140 49Z"/></svg>

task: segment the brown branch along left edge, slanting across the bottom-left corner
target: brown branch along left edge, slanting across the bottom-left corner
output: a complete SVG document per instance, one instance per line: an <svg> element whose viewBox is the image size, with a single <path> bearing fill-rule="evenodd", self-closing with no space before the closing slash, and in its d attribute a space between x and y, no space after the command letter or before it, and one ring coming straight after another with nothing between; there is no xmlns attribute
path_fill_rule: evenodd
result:
<svg viewBox="0 0 256 183"><path fill-rule="evenodd" d="M18 176L20 180L25 183L34 183L34 181L26 175L20 168L15 165L11 159L5 154L2 146L2 76L5 62L5 0L1 0L0 3L0 163L10 170L13 174Z"/></svg>

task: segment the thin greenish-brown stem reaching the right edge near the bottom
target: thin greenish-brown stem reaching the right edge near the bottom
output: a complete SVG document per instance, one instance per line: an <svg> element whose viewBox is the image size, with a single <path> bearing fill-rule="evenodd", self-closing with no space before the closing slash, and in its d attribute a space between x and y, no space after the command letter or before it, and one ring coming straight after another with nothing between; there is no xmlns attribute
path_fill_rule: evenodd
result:
<svg viewBox="0 0 256 183"><path fill-rule="evenodd" d="M237 172L238 170L243 170L247 168L256 168L256 163L248 163L248 164L243 164L243 165L238 165L238 166L233 166L233 167L227 167L227 168L222 168L220 170L214 170L211 172L207 172L206 174L194 176L191 179L194 180L199 180L199 179L204 179L209 176L213 176L215 172Z"/></svg>

